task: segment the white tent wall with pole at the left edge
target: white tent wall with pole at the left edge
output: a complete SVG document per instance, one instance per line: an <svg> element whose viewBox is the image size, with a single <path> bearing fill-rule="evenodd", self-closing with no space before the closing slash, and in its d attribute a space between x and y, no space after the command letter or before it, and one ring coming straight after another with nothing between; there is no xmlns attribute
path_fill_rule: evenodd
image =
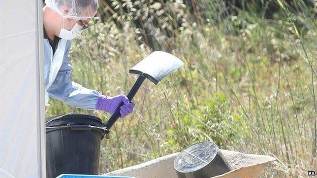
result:
<svg viewBox="0 0 317 178"><path fill-rule="evenodd" d="M42 0L0 6L0 177L45 177Z"/></svg>

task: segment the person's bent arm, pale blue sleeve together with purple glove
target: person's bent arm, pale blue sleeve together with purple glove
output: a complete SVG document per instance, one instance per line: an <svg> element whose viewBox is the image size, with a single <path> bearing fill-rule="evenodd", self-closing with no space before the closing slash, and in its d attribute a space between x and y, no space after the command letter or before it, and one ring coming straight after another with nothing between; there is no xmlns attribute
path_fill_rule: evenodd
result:
<svg viewBox="0 0 317 178"><path fill-rule="evenodd" d="M66 102L76 108L85 110L100 110L111 115L120 107L121 118L133 112L134 102L130 102L125 95L105 96L96 90L90 90L75 83L71 79L73 67L69 64L68 54L70 41L67 43L64 60L57 76L47 90L48 94L60 101Z"/></svg>

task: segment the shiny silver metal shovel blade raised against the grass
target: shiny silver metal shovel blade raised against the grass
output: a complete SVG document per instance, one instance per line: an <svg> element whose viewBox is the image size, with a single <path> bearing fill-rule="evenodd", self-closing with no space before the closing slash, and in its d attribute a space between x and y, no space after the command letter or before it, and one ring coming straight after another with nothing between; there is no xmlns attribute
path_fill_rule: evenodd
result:
<svg viewBox="0 0 317 178"><path fill-rule="evenodd" d="M179 58L172 54L154 51L132 67L129 72L132 74L143 74L156 85L183 64Z"/></svg>

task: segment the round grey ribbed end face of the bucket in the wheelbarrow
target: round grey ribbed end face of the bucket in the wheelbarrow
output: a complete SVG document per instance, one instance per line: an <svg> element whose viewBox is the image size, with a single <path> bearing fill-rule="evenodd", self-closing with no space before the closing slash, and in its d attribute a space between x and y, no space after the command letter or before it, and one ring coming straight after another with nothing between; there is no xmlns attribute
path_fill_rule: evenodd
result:
<svg viewBox="0 0 317 178"><path fill-rule="evenodd" d="M180 152L174 160L174 167L178 172L194 172L212 162L217 153L218 147L214 143L203 141Z"/></svg>

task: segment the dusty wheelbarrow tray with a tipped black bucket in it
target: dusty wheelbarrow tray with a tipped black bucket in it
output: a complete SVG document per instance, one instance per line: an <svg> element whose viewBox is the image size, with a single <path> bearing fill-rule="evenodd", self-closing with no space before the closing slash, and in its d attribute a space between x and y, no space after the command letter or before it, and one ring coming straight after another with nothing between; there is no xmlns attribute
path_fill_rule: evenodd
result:
<svg viewBox="0 0 317 178"><path fill-rule="evenodd" d="M220 149L220 152L224 155L233 170L213 176L212 178L258 177L269 162L276 160L266 155L245 154L222 149ZM136 178L177 178L174 169L174 159L177 155L178 153L173 153L135 166L115 170L106 175L134 176Z"/></svg>

